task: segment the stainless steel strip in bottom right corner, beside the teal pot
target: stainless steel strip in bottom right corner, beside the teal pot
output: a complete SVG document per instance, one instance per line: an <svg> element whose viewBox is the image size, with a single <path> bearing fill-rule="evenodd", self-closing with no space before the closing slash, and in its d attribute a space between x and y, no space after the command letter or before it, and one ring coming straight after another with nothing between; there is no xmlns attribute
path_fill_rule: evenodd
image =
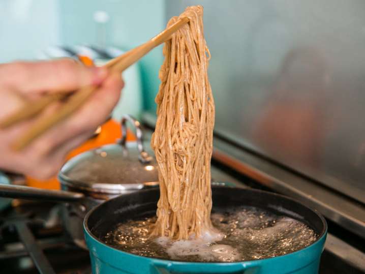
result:
<svg viewBox="0 0 365 274"><path fill-rule="evenodd" d="M365 254L332 234L327 234L325 249L352 266L365 272Z"/></svg>

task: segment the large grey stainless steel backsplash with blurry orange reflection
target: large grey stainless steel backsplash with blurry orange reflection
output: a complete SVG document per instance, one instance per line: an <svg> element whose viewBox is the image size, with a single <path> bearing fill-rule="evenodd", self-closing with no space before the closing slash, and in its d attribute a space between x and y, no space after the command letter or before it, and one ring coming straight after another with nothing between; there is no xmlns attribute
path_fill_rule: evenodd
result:
<svg viewBox="0 0 365 274"><path fill-rule="evenodd" d="M365 203L365 2L178 0L166 19L198 4L215 130Z"/></svg>

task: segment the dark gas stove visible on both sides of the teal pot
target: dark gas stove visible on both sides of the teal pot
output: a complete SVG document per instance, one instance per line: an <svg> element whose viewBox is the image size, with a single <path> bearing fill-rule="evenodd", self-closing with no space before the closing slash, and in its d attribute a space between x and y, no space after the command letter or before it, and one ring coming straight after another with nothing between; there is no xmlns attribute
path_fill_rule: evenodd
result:
<svg viewBox="0 0 365 274"><path fill-rule="evenodd" d="M254 179L213 163L214 181L269 190ZM57 203L13 200L12 207L0 212L1 273L92 273L88 251L76 246L64 230L60 209ZM336 252L339 249L342 250ZM363 253L356 253L346 242L329 234L319 273L364 273L347 260L351 256L365 258Z"/></svg>

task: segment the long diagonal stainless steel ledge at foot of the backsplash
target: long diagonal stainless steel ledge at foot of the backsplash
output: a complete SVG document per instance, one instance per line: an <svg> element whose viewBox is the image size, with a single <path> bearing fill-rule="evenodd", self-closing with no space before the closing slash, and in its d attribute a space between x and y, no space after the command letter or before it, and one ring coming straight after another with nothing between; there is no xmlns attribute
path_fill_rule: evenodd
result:
<svg viewBox="0 0 365 274"><path fill-rule="evenodd" d="M326 218L365 238L365 206L270 161L214 139L212 158L260 184L318 209Z"/></svg>

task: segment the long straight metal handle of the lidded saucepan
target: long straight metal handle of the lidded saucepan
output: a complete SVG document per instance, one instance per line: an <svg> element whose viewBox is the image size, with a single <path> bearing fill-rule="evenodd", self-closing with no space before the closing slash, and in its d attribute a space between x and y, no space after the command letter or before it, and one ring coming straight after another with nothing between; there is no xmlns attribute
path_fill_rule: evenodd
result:
<svg viewBox="0 0 365 274"><path fill-rule="evenodd" d="M0 197L70 202L81 200L84 195L82 193L69 191L45 190L32 187L0 184Z"/></svg>

